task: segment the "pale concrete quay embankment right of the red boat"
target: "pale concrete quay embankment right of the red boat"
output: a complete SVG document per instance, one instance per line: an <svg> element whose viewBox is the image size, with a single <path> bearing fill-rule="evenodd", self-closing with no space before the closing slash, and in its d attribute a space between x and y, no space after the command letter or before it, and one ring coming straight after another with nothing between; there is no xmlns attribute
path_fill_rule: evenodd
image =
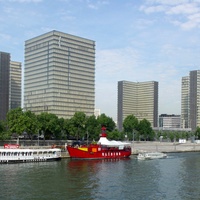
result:
<svg viewBox="0 0 200 200"><path fill-rule="evenodd" d="M172 143L172 142L133 142L132 143L132 153L138 154L140 152L194 152L200 151L200 144L198 143Z"/></svg>

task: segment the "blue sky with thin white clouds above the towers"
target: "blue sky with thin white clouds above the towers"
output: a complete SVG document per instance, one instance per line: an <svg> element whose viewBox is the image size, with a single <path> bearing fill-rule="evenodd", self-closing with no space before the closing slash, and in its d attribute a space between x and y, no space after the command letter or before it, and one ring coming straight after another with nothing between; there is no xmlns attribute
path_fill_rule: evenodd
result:
<svg viewBox="0 0 200 200"><path fill-rule="evenodd" d="M200 69L200 0L0 0L0 51L58 30L96 41L95 107L117 119L117 82L159 82L159 114L180 114L181 78Z"/></svg>

